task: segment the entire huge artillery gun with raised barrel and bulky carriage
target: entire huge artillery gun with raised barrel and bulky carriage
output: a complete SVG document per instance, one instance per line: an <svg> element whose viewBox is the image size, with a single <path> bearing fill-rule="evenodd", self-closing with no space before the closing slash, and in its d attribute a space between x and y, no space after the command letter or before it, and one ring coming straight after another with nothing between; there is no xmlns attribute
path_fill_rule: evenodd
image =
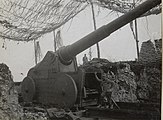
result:
<svg viewBox="0 0 163 120"><path fill-rule="evenodd" d="M71 108L74 105L82 107L83 94L89 94L84 89L96 90L98 95L99 84L97 80L92 83L85 79L85 71L77 67L75 56L160 3L161 0L147 0L79 41L62 47L57 52L48 51L43 60L29 70L22 82L24 102L59 108Z"/></svg>

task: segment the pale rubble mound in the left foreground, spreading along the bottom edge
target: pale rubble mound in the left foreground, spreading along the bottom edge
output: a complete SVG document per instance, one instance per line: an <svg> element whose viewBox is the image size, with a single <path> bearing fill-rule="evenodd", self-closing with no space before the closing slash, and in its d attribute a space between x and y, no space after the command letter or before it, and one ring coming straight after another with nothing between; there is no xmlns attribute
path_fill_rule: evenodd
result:
<svg viewBox="0 0 163 120"><path fill-rule="evenodd" d="M0 120L47 120L43 112L24 110L18 103L11 71L0 64Z"/></svg>

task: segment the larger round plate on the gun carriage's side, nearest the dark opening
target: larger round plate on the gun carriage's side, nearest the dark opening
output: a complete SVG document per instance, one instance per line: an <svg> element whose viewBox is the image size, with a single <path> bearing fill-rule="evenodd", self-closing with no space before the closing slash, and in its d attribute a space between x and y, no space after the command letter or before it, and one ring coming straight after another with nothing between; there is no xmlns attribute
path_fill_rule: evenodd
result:
<svg viewBox="0 0 163 120"><path fill-rule="evenodd" d="M72 107L77 99L77 87L73 78L67 74L57 74L52 84L51 98L56 107Z"/></svg>

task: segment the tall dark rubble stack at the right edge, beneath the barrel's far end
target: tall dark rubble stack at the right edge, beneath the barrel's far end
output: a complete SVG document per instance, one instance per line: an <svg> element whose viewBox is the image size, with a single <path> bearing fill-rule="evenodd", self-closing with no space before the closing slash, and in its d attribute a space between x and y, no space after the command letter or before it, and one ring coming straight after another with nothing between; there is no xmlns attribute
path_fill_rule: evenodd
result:
<svg viewBox="0 0 163 120"><path fill-rule="evenodd" d="M143 42L139 62L144 63L144 68L139 72L137 96L139 99L160 101L161 92L161 56L162 39Z"/></svg>

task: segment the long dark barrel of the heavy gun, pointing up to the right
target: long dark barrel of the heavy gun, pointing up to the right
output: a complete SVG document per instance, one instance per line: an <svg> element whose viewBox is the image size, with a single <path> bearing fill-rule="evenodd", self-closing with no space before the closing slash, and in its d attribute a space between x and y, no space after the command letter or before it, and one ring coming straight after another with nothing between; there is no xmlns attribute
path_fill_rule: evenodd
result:
<svg viewBox="0 0 163 120"><path fill-rule="evenodd" d="M77 54L79 54L80 52L86 50L87 48L91 47L97 42L103 40L114 31L130 23L134 19L140 17L141 15L143 15L153 7L159 5L160 3L161 0L147 0L146 2L136 7L135 9L126 13L125 15L122 15L116 20L112 21L111 23L100 27L96 31L81 38L79 41L60 49L59 50L60 60L63 63L70 62L71 59Z"/></svg>

